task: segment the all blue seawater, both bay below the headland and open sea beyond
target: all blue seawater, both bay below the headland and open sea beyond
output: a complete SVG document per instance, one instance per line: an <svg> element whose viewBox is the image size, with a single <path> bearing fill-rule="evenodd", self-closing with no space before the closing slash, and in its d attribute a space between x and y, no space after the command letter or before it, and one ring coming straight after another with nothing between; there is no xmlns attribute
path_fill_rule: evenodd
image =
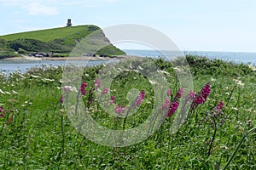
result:
<svg viewBox="0 0 256 170"><path fill-rule="evenodd" d="M231 61L234 63L244 63L256 65L256 53L241 53L241 52L210 52L210 51L157 51L157 50L142 50L142 49L123 49L127 55L135 55L140 57L166 57L176 56L180 54L193 54L210 59L222 59L224 61ZM71 62L71 61L69 61ZM81 61L72 61L74 65L80 65ZM90 60L86 66L101 65L107 63L109 60ZM42 67L43 65L66 65L67 61L54 60L4 60L0 59L0 72L9 75L10 72L20 71L26 73L27 70L33 67Z"/></svg>

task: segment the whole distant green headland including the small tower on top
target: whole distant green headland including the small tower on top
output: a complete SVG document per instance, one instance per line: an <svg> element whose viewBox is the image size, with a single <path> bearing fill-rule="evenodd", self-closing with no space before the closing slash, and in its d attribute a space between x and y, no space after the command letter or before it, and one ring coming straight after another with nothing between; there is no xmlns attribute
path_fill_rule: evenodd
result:
<svg viewBox="0 0 256 170"><path fill-rule="evenodd" d="M92 33L97 32L93 42L84 41ZM96 46L101 44L98 50ZM104 44L104 45L102 45ZM106 45L105 45L106 44ZM74 48L77 48L74 52ZM58 58L71 55L84 57L113 58L125 52L113 46L108 37L98 26L72 26L71 19L67 26L38 31L26 31L0 36L0 59L31 56L37 58Z"/></svg>

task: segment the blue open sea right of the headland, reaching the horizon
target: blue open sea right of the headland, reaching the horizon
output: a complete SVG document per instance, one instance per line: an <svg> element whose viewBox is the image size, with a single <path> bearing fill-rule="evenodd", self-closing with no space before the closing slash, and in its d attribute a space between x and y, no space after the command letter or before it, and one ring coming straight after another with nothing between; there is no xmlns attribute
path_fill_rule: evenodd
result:
<svg viewBox="0 0 256 170"><path fill-rule="evenodd" d="M156 50L135 50L135 49L125 49L126 54L137 55L137 56L148 56L148 57L159 57L167 55L178 55L178 54L194 54L199 56L206 56L210 59L222 59L224 61L232 61L235 63L251 63L256 65L256 53L241 53L241 52L211 52L211 51L181 51L181 52L171 52L164 51L164 54L161 54Z"/></svg>

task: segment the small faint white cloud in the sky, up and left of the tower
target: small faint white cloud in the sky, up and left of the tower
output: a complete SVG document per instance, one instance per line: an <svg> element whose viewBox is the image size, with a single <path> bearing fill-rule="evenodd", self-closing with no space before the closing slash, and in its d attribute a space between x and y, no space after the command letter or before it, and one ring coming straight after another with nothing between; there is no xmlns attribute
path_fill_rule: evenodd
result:
<svg viewBox="0 0 256 170"><path fill-rule="evenodd" d="M43 3L29 3L23 6L28 14L31 15L55 15L58 14L58 9L44 5Z"/></svg>

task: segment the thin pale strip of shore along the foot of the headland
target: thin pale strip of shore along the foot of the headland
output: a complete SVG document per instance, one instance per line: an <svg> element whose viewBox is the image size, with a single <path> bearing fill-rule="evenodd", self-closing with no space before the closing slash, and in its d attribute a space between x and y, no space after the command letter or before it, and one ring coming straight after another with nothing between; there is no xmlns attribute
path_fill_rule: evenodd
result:
<svg viewBox="0 0 256 170"><path fill-rule="evenodd" d="M5 58L3 60L54 60L54 61L66 61L66 60L111 60L111 59L139 59L141 57L131 56L131 55L120 55L115 57L88 57L88 56L81 56L81 57L12 57L12 58Z"/></svg>

